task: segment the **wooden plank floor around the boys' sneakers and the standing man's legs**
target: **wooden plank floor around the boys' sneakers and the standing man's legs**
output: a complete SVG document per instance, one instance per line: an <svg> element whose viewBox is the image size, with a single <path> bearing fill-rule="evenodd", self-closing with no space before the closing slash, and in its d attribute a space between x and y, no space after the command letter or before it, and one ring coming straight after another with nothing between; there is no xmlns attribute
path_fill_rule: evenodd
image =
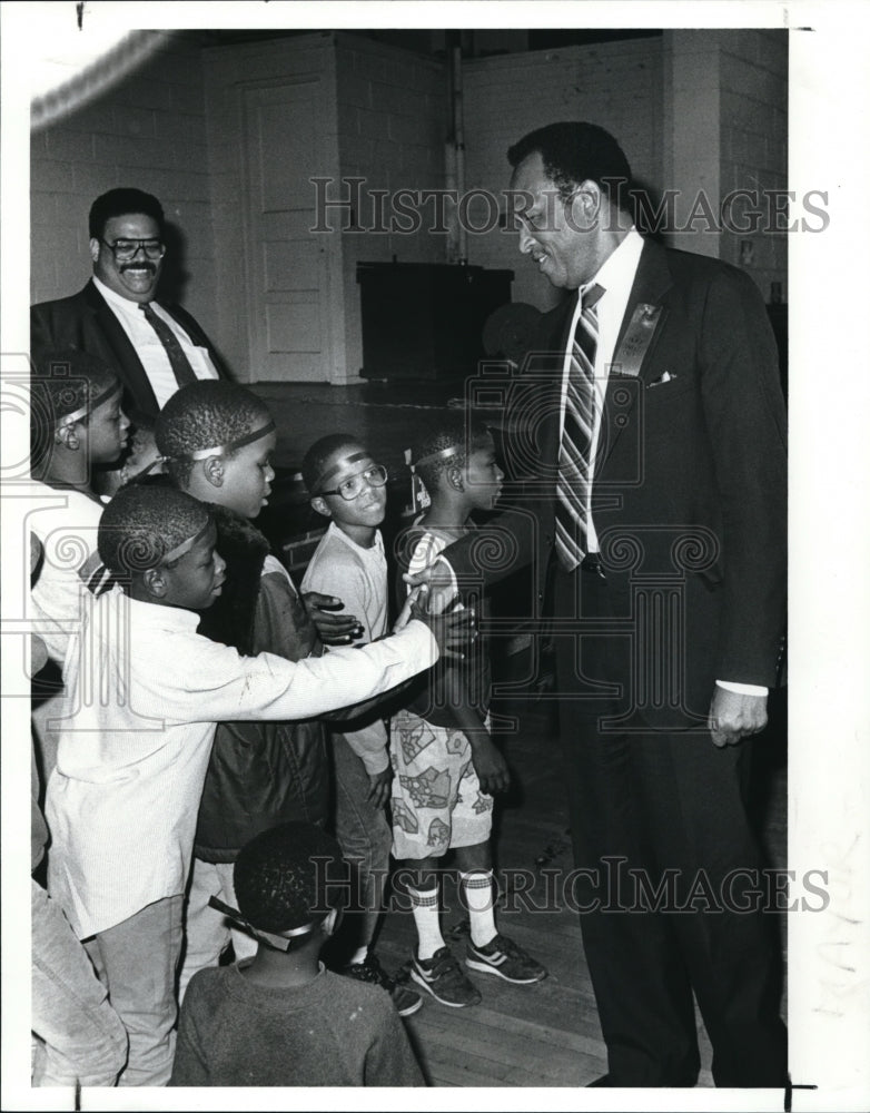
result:
<svg viewBox="0 0 870 1113"><path fill-rule="evenodd" d="M423 1008L405 1023L433 1086L583 1086L606 1072L579 916L564 904L550 912L532 907L533 902L546 904L545 870L572 868L552 712L534 698L514 702L511 710L520 730L504 747L514 789L496 819L496 871L523 868L537 880L528 899L516 893L501 895L498 926L532 952L550 976L536 985L512 986L472 974L483 1002L469 1008L446 1008L424 995ZM784 764L771 761L765 779L765 843L773 863L783 865ZM444 936L462 957L467 920L449 887L446 905ZM388 912L377 947L384 966L406 973L414 942L411 914ZM700 1018L699 1036L699 1085L712 1086L710 1045Z"/></svg>

